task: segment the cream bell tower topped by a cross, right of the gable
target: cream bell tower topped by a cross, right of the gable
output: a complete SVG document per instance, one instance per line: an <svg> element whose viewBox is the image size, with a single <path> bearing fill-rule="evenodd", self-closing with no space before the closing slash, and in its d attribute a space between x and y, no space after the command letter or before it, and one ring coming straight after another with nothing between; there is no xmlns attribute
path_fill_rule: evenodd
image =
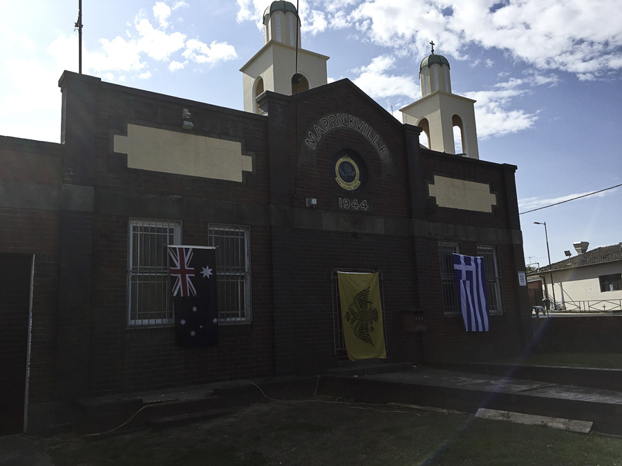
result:
<svg viewBox="0 0 622 466"><path fill-rule="evenodd" d="M475 128L473 99L451 93L449 61L434 53L424 58L419 67L421 99L399 111L402 121L423 128L428 148L455 154L454 127L459 128L462 155L479 159L478 133Z"/></svg>

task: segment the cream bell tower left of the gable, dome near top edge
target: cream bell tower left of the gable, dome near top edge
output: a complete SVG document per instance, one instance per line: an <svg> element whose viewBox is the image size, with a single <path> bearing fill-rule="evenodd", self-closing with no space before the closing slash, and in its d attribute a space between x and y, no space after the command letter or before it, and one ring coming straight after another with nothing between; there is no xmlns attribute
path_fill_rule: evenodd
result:
<svg viewBox="0 0 622 466"><path fill-rule="evenodd" d="M328 57L301 48L300 18L289 1L273 1L266 8L263 41L261 50L240 70L244 77L245 111L258 113L256 99L266 90L293 95L328 82Z"/></svg>

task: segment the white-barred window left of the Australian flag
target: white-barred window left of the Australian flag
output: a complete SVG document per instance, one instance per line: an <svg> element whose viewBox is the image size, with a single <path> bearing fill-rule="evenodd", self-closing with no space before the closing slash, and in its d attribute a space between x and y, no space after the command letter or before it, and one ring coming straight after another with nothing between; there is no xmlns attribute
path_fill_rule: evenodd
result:
<svg viewBox="0 0 622 466"><path fill-rule="evenodd" d="M173 323L167 245L181 244L181 231L181 222L130 219L128 325Z"/></svg>

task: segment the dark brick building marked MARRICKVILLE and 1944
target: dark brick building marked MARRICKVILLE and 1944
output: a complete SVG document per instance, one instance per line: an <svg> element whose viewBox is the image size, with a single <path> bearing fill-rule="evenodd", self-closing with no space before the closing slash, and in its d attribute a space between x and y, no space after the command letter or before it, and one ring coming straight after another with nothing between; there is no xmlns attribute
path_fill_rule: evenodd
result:
<svg viewBox="0 0 622 466"><path fill-rule="evenodd" d="M348 79L258 79L243 112L64 72L61 144L0 138L4 431L84 396L334 367L338 270L381 274L389 359L521 350L516 166L423 148L434 122L400 124ZM176 343L167 244L218 246L214 347ZM464 331L455 251L487 261L489 332Z"/></svg>

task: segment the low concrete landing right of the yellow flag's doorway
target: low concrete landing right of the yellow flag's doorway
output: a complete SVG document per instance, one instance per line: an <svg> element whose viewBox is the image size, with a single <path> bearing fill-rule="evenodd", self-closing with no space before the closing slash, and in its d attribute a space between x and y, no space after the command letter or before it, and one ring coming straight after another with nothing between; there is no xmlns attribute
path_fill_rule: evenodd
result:
<svg viewBox="0 0 622 466"><path fill-rule="evenodd" d="M622 435L621 391L422 367L368 376L323 376L320 386L322 394L357 401L585 420L596 431Z"/></svg>

